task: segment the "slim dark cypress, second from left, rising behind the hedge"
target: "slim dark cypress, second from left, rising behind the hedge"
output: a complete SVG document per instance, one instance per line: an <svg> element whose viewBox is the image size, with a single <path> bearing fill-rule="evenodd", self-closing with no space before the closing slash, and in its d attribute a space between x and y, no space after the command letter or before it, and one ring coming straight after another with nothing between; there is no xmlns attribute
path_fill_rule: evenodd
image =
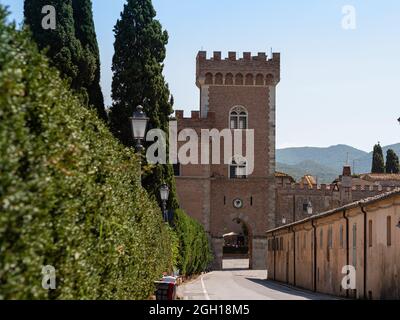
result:
<svg viewBox="0 0 400 320"><path fill-rule="evenodd" d="M104 120L107 114L104 109L104 97L100 86L100 52L96 38L96 31L93 21L92 1L91 0L72 0L75 35L85 48L86 52L90 52L95 60L95 71L93 81L87 84L87 93L89 96L89 104L93 105L99 116ZM80 72L86 72L85 64Z"/></svg>

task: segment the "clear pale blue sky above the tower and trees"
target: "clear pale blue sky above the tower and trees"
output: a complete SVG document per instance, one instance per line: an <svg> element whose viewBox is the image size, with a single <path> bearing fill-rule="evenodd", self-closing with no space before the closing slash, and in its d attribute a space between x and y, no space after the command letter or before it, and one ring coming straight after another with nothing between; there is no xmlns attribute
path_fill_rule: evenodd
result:
<svg viewBox="0 0 400 320"><path fill-rule="evenodd" d="M111 104L113 26L125 0L92 0ZM22 21L23 0L0 0ZM175 109L198 108L198 50L282 54L278 147L349 144L370 151L400 141L400 1L153 0L169 32L165 76ZM356 9L355 30L342 7Z"/></svg>

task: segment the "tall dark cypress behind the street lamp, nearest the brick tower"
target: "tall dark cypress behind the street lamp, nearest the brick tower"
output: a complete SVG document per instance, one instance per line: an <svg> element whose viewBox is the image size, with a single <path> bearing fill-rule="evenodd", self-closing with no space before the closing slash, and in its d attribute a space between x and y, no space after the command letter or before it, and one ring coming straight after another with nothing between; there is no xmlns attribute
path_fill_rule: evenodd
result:
<svg viewBox="0 0 400 320"><path fill-rule="evenodd" d="M140 104L150 118L150 128L168 132L172 105L162 74L168 34L155 16L151 0L127 0L114 28L110 122L114 135L126 146L133 145L129 117ZM157 165L147 169L144 187L159 199L159 186L162 181L167 182L172 189L169 206L176 207L172 167Z"/></svg>

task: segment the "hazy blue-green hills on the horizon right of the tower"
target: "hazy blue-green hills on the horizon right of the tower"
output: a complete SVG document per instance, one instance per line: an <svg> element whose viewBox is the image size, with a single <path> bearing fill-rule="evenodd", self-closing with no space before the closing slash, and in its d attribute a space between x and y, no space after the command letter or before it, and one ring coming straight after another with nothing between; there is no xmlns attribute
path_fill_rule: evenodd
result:
<svg viewBox="0 0 400 320"><path fill-rule="evenodd" d="M388 149L393 149L400 156L400 143L382 149L385 158ZM317 177L318 183L331 183L342 173L347 160L349 165L354 166L353 173L371 171L372 152L367 153L343 144L327 148L278 149L276 170L290 174L296 180L311 174Z"/></svg>

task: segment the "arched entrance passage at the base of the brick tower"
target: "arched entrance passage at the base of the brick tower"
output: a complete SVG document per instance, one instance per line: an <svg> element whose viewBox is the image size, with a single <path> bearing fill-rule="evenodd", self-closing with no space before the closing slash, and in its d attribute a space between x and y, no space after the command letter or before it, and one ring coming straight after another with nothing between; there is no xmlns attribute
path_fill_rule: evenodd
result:
<svg viewBox="0 0 400 320"><path fill-rule="evenodd" d="M252 234L248 224L234 218L223 235L222 269L250 269L252 265Z"/></svg>

